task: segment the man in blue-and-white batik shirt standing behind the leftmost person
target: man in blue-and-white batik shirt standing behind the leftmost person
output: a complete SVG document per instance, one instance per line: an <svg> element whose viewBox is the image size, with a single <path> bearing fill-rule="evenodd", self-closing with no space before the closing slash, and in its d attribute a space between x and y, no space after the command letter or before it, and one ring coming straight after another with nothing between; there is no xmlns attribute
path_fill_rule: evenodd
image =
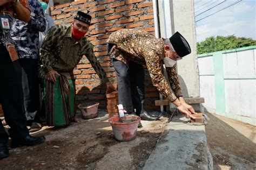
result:
<svg viewBox="0 0 256 170"><path fill-rule="evenodd" d="M19 64L22 66L22 88L26 119L30 132L40 130L39 119L39 82L38 82L38 53L39 31L44 31L46 22L44 11L37 0L29 0L32 13L29 23L16 19L12 25L11 38L19 55Z"/></svg>

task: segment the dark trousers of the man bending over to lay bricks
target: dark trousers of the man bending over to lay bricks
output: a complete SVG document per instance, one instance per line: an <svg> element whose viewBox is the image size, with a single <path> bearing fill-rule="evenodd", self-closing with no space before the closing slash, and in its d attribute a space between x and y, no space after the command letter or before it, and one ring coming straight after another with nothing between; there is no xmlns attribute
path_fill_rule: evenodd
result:
<svg viewBox="0 0 256 170"><path fill-rule="evenodd" d="M123 104L127 113L136 109L136 114L144 108L144 68L135 62L129 62L129 68L124 62L113 59L113 66L117 73L118 100Z"/></svg>

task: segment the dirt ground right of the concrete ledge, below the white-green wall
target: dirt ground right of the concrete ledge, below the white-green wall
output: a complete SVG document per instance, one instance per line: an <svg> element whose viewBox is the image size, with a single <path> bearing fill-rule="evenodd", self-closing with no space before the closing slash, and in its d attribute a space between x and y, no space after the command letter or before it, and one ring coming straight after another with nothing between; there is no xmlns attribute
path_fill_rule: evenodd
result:
<svg viewBox="0 0 256 170"><path fill-rule="evenodd" d="M256 169L256 128L215 114L206 125L214 169Z"/></svg>

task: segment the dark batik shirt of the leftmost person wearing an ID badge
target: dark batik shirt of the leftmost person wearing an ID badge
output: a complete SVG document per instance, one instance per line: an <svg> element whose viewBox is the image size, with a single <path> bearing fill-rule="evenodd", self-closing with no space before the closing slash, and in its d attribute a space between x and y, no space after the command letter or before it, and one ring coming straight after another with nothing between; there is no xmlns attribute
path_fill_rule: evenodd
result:
<svg viewBox="0 0 256 170"><path fill-rule="evenodd" d="M25 8L29 9L29 3L28 0L19 0L19 3L21 3ZM10 24L14 21L15 12L14 9L12 9L11 3L6 3L2 6L0 6L0 15L8 16L10 19ZM11 25L10 25L11 28ZM4 46L6 46L6 42L10 42L11 44L14 44L13 40L10 37L10 30L3 31L0 29L0 42L3 43Z"/></svg>

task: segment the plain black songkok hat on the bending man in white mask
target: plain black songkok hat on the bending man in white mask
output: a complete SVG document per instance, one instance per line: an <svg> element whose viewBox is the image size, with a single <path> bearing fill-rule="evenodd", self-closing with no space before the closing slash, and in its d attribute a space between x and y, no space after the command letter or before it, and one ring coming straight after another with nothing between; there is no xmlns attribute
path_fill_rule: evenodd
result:
<svg viewBox="0 0 256 170"><path fill-rule="evenodd" d="M187 40L183 36L181 36L179 32L173 34L172 37L169 39L175 52L180 57L183 57L191 53L190 45L188 44Z"/></svg>

